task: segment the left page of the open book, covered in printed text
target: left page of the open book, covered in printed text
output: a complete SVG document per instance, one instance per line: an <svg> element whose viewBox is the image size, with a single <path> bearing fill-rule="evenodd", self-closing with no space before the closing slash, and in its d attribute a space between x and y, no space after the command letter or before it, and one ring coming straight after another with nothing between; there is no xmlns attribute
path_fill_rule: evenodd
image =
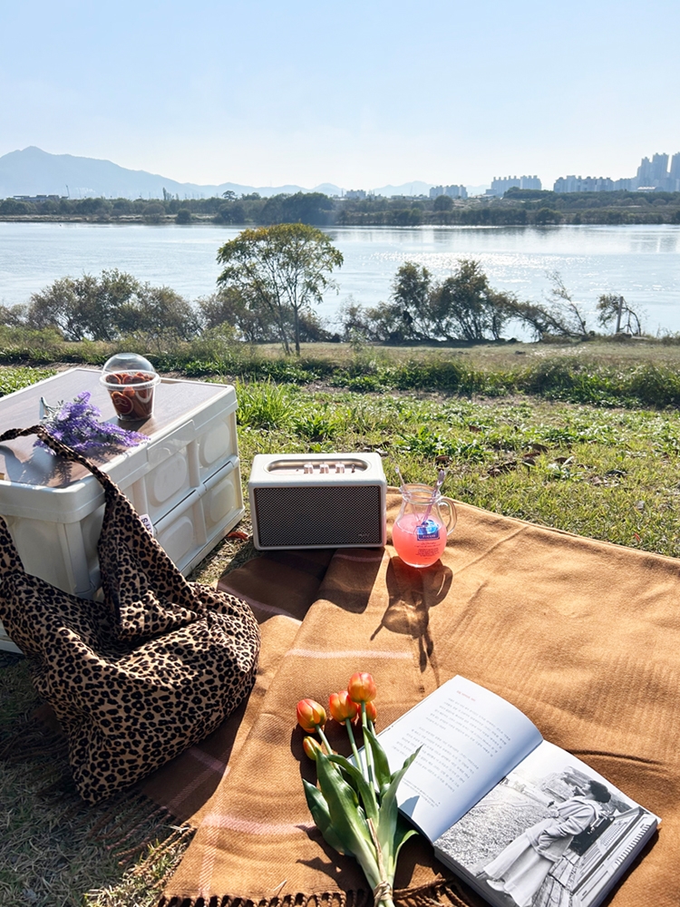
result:
<svg viewBox="0 0 680 907"><path fill-rule="evenodd" d="M423 747L399 787L399 808L431 841L540 741L538 728L519 708L461 677L380 734L392 771Z"/></svg>

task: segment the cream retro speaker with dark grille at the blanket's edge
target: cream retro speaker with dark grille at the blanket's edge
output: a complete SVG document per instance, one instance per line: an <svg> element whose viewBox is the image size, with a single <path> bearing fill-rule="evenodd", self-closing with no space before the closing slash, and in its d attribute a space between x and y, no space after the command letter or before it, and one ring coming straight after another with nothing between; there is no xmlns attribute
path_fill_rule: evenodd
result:
<svg viewBox="0 0 680 907"><path fill-rule="evenodd" d="M386 487L377 453L258 453L248 480L255 547L384 545Z"/></svg>

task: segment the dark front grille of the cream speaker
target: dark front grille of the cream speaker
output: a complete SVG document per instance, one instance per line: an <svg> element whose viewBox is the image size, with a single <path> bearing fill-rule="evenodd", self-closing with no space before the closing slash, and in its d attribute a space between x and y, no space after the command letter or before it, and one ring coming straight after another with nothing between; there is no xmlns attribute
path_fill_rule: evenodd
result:
<svg viewBox="0 0 680 907"><path fill-rule="evenodd" d="M262 548L379 545L383 541L380 485L253 491Z"/></svg>

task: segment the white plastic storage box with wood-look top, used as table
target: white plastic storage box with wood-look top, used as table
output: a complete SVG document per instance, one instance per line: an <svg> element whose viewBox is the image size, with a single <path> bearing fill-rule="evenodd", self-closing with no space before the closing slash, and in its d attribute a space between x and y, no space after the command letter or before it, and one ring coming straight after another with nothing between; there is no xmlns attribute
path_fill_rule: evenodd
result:
<svg viewBox="0 0 680 907"><path fill-rule="evenodd" d="M0 432L39 422L50 405L90 391L102 418L115 421L99 372L73 368L0 399ZM92 458L148 514L156 538L188 573L244 513L238 462L236 393L231 385L163 378L154 415L126 423L149 440ZM34 447L35 437L0 444L0 515L27 572L83 598L100 587L97 541L103 492L78 463ZM15 649L0 624L0 649Z"/></svg>

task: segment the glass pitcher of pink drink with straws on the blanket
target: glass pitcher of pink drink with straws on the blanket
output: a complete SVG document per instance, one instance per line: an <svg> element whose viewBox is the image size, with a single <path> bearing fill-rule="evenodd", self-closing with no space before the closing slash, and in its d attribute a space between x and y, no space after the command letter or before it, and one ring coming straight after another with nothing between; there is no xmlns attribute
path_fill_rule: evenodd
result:
<svg viewBox="0 0 680 907"><path fill-rule="evenodd" d="M451 498L434 493L430 485L402 485L402 509L392 528L394 549L404 563L429 567L442 557L457 519Z"/></svg>

